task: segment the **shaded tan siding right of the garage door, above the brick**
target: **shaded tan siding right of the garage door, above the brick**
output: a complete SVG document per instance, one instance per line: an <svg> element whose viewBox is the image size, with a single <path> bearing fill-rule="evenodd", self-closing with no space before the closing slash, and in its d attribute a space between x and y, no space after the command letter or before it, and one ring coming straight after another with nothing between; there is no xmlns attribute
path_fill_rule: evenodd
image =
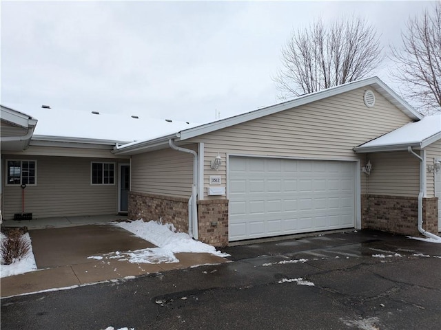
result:
<svg viewBox="0 0 441 330"><path fill-rule="evenodd" d="M407 151L367 155L372 170L362 193L416 197L420 192L420 161Z"/></svg>

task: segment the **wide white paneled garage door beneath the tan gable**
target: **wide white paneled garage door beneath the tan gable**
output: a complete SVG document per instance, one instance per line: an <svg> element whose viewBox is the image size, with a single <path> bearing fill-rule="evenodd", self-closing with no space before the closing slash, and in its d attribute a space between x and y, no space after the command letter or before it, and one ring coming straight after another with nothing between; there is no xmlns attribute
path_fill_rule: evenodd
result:
<svg viewBox="0 0 441 330"><path fill-rule="evenodd" d="M229 158L229 241L355 226L355 164Z"/></svg>

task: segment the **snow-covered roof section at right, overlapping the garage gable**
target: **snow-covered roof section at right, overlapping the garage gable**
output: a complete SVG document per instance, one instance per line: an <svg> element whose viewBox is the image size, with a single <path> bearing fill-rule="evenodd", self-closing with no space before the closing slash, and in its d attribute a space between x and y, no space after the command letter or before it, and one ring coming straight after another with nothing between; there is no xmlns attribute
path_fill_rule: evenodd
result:
<svg viewBox="0 0 441 330"><path fill-rule="evenodd" d="M431 115L418 122L410 122L374 140L353 148L357 153L407 150L425 148L441 139L441 115Z"/></svg>

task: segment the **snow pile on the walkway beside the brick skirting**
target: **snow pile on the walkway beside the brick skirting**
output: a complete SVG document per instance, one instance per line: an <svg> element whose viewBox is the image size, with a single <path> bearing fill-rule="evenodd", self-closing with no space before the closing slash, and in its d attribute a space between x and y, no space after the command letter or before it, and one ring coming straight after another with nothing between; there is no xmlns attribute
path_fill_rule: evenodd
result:
<svg viewBox="0 0 441 330"><path fill-rule="evenodd" d="M115 258L125 257L131 263L177 263L175 253L209 253L215 256L226 257L229 254L216 251L212 245L195 241L185 232L176 232L171 223L160 224L156 221L145 222L136 220L131 222L120 222L117 226L136 234L136 236L153 243L158 248L148 248L118 254Z"/></svg>

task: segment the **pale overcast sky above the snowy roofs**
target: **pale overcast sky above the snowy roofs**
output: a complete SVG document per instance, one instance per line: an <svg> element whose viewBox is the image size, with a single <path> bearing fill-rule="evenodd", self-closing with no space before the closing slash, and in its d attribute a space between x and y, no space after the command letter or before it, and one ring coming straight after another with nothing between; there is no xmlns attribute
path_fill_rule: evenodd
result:
<svg viewBox="0 0 441 330"><path fill-rule="evenodd" d="M272 77L293 29L356 14L387 51L432 3L1 1L1 102L225 118L280 102ZM398 91L387 65L375 74Z"/></svg>

